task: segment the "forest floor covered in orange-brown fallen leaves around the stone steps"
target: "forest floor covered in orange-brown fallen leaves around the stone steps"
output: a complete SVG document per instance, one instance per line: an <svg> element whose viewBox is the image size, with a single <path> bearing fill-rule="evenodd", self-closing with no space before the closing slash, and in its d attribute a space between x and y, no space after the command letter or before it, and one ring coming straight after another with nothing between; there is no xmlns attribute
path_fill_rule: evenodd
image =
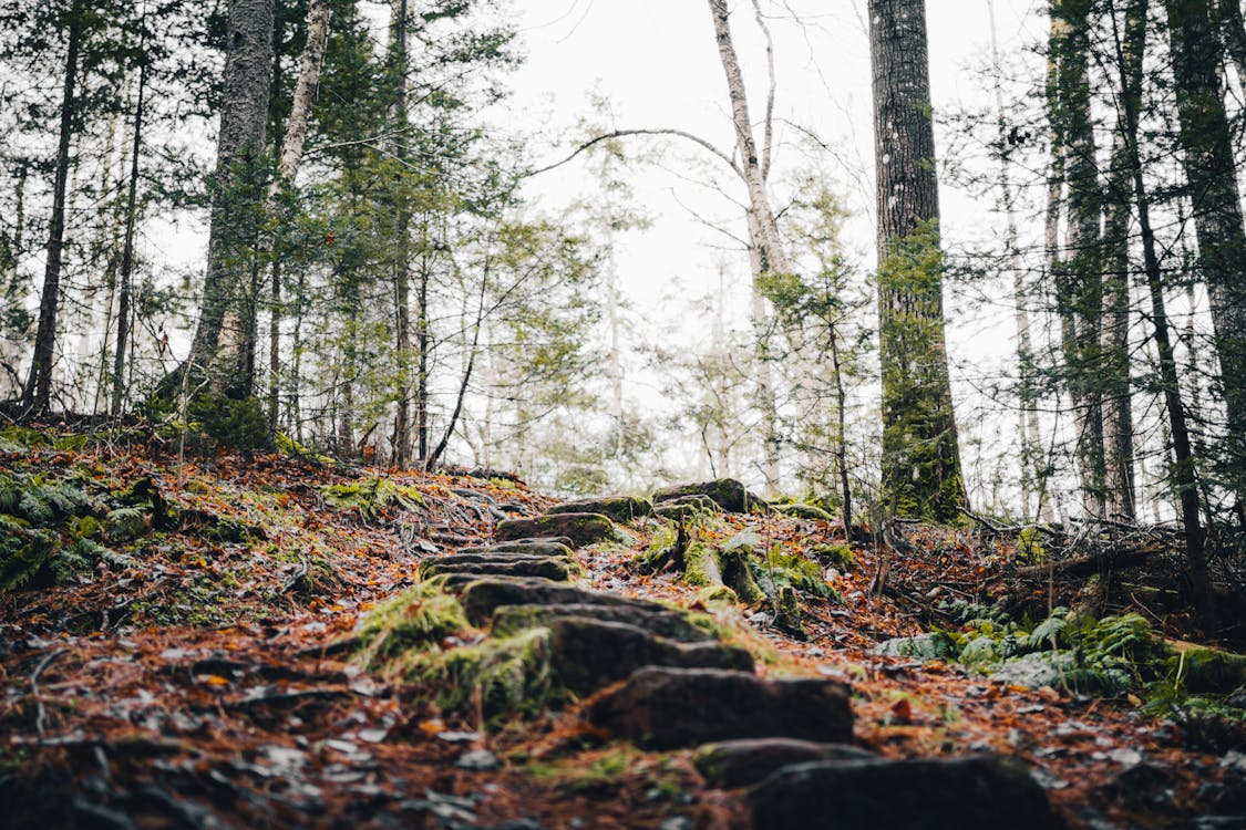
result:
<svg viewBox="0 0 1246 830"><path fill-rule="evenodd" d="M612 742L576 701L486 723L358 660L360 621L417 585L421 560L490 543L491 508L535 515L552 499L500 478L277 454L183 463L176 448L64 439L4 449L0 477L72 482L106 501L93 508L107 508L98 530L75 528L120 556L80 564L61 585L45 565L0 594L0 826L750 825L741 794L710 789L689 750ZM376 498L381 482L392 498ZM127 513L140 495L146 506ZM2 493L0 511L15 511ZM1015 540L911 526L903 554L855 544L851 564L825 571L837 601L804 596L806 638L794 638L764 609L706 607L678 574L642 575L633 560L658 528L640 520L621 541L577 550L582 582L713 613L761 674L849 683L858 747L1018 757L1069 826L1246 826L1231 818L1246 815L1246 740L1232 718L877 653L953 626L957 597L1069 602L1084 580L1014 580L1030 564ZM845 541L831 524L759 513L725 514L711 534L745 529L794 555ZM1155 623L1184 633L1177 616ZM462 631L441 646L476 640Z"/></svg>

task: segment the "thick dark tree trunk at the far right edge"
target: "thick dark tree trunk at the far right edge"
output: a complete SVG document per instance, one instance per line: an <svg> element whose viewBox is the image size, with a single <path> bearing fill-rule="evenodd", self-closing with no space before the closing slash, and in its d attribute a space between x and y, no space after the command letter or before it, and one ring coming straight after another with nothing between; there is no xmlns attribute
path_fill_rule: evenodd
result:
<svg viewBox="0 0 1246 830"><path fill-rule="evenodd" d="M1246 230L1209 0L1165 0L1182 164L1227 413L1225 470L1246 493Z"/></svg>

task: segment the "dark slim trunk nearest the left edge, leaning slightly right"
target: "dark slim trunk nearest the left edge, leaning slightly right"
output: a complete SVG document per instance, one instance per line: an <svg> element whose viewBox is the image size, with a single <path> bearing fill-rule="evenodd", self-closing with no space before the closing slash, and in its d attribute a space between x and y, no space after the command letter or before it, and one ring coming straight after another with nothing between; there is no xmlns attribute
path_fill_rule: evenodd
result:
<svg viewBox="0 0 1246 830"><path fill-rule="evenodd" d="M47 412L52 391L52 363L56 360L56 315L60 311L61 263L65 253L66 185L70 173L70 143L77 108L78 50L82 42L82 0L70 7L69 45L65 52L65 78L61 86L61 124L56 146L56 172L52 179L52 218L47 229L47 261L44 266L44 291L39 301L39 329L30 377L22 391L26 414Z"/></svg>

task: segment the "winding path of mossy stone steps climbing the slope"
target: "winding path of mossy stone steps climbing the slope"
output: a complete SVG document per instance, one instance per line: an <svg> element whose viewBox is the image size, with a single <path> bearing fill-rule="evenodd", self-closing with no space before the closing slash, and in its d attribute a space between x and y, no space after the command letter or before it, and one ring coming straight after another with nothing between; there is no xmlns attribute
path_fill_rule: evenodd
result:
<svg viewBox="0 0 1246 830"><path fill-rule="evenodd" d="M654 511L679 516L701 499L748 506L692 488ZM984 754L891 760L858 749L845 683L759 677L749 651L684 613L571 584L577 548L614 539L614 521L647 513L622 498L559 505L503 521L497 544L429 559L421 574L441 577L490 638L547 632L541 671L583 701L589 727L645 750L694 749L709 786L743 790L751 826L1055 826L1024 764Z"/></svg>

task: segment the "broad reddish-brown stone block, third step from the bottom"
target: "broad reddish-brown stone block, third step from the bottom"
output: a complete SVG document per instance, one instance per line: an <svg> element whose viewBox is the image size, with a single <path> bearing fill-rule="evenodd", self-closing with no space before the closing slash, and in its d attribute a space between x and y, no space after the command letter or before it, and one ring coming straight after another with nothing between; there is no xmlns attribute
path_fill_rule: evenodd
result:
<svg viewBox="0 0 1246 830"><path fill-rule="evenodd" d="M588 719L647 749L738 738L852 740L842 683L761 679L714 668L642 668L588 708Z"/></svg>

